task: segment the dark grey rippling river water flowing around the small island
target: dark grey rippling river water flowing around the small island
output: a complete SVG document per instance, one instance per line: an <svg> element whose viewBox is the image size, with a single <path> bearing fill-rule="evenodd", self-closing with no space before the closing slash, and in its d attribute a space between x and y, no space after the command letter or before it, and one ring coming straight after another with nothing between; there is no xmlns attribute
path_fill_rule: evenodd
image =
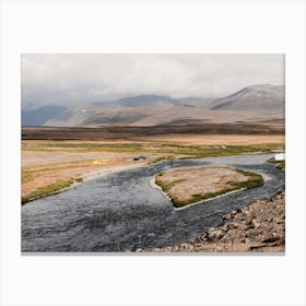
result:
<svg viewBox="0 0 306 306"><path fill-rule="evenodd" d="M191 242L217 226L222 215L284 188L285 175L271 155L166 161L87 180L23 205L22 251L126 251ZM183 166L231 165L263 175L262 187L174 210L150 179ZM203 177L204 179L204 177Z"/></svg>

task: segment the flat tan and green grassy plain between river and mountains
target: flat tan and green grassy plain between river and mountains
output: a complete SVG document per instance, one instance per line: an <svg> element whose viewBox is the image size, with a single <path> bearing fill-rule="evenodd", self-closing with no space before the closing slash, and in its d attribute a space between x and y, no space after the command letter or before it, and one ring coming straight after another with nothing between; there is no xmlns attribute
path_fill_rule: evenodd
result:
<svg viewBox="0 0 306 306"><path fill-rule="evenodd" d="M284 138L280 134L176 134L175 138L173 134L163 134L99 140L26 139L22 140L22 196L31 198L35 192L39 196L47 195L55 185L58 190L60 186L66 186L67 181L116 168L174 158L271 153L282 150L283 146ZM125 157L141 155L146 160L123 161Z"/></svg>

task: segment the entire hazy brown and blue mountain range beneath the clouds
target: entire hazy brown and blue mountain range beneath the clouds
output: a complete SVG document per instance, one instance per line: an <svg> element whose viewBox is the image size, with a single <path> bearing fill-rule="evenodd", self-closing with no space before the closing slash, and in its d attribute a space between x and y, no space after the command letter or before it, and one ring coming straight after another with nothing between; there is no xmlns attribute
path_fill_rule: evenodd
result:
<svg viewBox="0 0 306 306"><path fill-rule="evenodd" d="M217 99L138 95L72 107L22 110L23 126L151 127L284 120L284 86L251 85Z"/></svg>

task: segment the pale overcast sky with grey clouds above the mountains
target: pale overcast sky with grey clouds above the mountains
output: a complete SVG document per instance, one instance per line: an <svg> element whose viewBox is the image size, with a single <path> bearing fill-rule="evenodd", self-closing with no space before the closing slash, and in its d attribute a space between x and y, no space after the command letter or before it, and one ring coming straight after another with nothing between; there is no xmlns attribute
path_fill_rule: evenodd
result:
<svg viewBox="0 0 306 306"><path fill-rule="evenodd" d="M123 96L222 97L284 85L283 55L22 55L22 107Z"/></svg>

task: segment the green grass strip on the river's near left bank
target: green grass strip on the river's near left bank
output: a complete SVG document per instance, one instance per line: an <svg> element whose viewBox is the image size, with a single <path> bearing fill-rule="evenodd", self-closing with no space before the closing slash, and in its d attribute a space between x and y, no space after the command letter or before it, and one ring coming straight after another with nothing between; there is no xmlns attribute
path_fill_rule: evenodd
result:
<svg viewBox="0 0 306 306"><path fill-rule="evenodd" d="M51 184L49 186L39 187L36 190L34 190L34 191L32 191L32 192L30 192L25 196L22 196L21 203L24 204L24 203L26 203L28 201L32 201L34 199L42 198L42 197L58 192L61 189L70 187L75 181L81 183L81 181L83 181L83 179L81 177L71 178L71 179L68 179L68 180L61 180L61 181Z"/></svg>

